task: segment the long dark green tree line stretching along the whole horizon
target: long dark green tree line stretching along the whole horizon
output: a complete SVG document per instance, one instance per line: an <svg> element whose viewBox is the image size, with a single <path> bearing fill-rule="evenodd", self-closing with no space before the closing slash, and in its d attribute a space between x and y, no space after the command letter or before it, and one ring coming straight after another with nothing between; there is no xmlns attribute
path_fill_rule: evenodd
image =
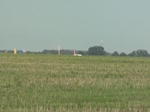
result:
<svg viewBox="0 0 150 112"><path fill-rule="evenodd" d="M65 54L65 55L73 55L74 50L66 50L66 49L61 49L60 54ZM13 50L1 50L0 53L13 53ZM18 53L21 53L20 50L18 50ZM44 49L41 52L35 52L35 51L26 51L26 54L58 54L58 50L48 50ZM87 51L83 50L77 50L77 54L82 54L82 55L95 55L95 56L132 56L132 57L149 57L150 54L148 53L147 50L136 50L132 51L129 54L126 54L125 52L117 52L114 51L113 53L108 53L105 51L103 46L92 46L89 47Z"/></svg>

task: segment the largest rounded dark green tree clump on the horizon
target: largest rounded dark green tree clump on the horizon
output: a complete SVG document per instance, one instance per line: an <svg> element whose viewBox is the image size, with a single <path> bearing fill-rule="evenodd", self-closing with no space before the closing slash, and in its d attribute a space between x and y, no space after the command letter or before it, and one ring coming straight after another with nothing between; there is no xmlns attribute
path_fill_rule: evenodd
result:
<svg viewBox="0 0 150 112"><path fill-rule="evenodd" d="M104 48L102 46L93 46L88 49L89 55L105 55Z"/></svg>

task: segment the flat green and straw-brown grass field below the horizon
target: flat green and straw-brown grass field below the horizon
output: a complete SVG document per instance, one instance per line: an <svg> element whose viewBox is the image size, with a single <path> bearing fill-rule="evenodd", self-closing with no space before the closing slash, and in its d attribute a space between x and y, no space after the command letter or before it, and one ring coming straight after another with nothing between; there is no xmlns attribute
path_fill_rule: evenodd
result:
<svg viewBox="0 0 150 112"><path fill-rule="evenodd" d="M150 58L0 54L0 112L150 112Z"/></svg>

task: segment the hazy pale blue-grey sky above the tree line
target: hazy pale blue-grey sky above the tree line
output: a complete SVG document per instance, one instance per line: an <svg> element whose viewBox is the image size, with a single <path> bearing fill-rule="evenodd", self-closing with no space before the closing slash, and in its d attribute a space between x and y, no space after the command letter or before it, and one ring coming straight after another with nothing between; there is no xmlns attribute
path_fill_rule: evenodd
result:
<svg viewBox="0 0 150 112"><path fill-rule="evenodd" d="M150 0L0 0L0 49L150 52ZM103 43L101 44L101 40Z"/></svg>

